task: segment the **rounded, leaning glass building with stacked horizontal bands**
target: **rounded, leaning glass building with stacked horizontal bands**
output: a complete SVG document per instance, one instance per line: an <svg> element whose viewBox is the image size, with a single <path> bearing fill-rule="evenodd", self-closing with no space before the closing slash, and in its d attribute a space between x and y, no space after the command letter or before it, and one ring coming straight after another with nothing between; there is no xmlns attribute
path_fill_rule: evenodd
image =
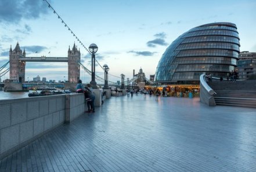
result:
<svg viewBox="0 0 256 172"><path fill-rule="evenodd" d="M201 74L226 77L236 65L239 35L233 23L210 23L192 28L165 50L155 81L199 83Z"/></svg>

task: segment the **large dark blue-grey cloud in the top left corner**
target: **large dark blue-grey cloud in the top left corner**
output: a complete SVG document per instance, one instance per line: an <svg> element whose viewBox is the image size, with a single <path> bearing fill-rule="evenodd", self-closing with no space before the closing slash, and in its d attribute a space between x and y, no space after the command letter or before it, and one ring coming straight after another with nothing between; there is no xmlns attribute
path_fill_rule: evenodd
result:
<svg viewBox="0 0 256 172"><path fill-rule="evenodd" d="M1 0L0 23L19 23L22 19L38 19L48 13L44 1L35 0Z"/></svg>

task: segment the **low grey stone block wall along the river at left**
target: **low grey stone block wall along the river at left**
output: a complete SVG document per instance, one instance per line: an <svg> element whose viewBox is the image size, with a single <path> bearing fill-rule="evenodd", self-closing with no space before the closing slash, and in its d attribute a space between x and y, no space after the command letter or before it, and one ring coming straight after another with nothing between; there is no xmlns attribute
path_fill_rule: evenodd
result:
<svg viewBox="0 0 256 172"><path fill-rule="evenodd" d="M0 100L0 159L85 111L84 94Z"/></svg>

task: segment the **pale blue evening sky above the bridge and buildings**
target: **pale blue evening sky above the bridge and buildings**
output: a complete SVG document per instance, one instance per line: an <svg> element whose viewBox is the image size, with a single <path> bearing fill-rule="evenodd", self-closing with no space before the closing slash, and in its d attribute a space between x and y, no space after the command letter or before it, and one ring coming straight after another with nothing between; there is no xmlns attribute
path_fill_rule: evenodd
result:
<svg viewBox="0 0 256 172"><path fill-rule="evenodd" d="M165 49L179 35L215 22L235 23L240 51L256 52L255 0L47 1L56 13L43 0L0 1L0 68L9 61L10 46L14 49L19 42L27 57L67 57L68 46L75 43L82 64L91 69L91 55L82 45L88 49L96 43L96 60L109 66L109 80L116 82L121 74L125 79L132 78L133 70L138 74L140 68L149 78ZM96 74L104 78L100 65ZM37 75L66 80L67 63L26 63L26 80ZM9 74L2 76L2 80L8 78ZM80 78L84 83L91 80L83 69Z"/></svg>

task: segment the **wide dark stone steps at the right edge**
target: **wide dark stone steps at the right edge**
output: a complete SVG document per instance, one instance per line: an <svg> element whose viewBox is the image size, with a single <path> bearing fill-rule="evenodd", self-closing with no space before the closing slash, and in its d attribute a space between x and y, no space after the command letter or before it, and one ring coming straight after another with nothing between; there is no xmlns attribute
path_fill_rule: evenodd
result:
<svg viewBox="0 0 256 172"><path fill-rule="evenodd" d="M208 85L217 93L214 96L217 105L256 108L256 80L212 80Z"/></svg>

